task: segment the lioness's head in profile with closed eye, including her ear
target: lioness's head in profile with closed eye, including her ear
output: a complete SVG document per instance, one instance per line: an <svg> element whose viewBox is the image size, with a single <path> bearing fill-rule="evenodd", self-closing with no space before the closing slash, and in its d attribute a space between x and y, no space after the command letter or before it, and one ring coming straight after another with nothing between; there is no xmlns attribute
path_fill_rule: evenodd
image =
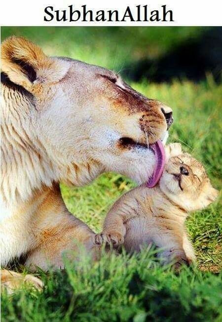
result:
<svg viewBox="0 0 222 322"><path fill-rule="evenodd" d="M1 69L4 85L22 95L22 127L57 169L57 179L83 184L115 171L142 183L151 175L155 160L148 145L166 137L171 108L136 92L115 72L48 57L21 37L2 43Z"/></svg>

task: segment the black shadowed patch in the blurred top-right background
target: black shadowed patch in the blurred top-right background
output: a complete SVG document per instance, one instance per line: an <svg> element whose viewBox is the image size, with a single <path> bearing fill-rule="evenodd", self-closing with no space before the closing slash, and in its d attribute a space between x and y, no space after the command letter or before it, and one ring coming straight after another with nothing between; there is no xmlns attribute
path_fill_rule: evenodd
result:
<svg viewBox="0 0 222 322"><path fill-rule="evenodd" d="M216 82L222 80L222 28L206 30L197 38L176 44L164 56L142 59L126 67L125 75L139 81L167 82L174 78L200 81L210 72Z"/></svg>

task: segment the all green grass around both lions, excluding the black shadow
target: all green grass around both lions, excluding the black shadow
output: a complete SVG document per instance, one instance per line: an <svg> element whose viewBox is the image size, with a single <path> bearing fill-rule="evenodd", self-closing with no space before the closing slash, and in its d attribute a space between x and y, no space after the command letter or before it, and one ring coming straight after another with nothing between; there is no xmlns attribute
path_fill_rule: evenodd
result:
<svg viewBox="0 0 222 322"><path fill-rule="evenodd" d="M28 36L50 54L71 56L118 71L125 61L146 55L148 41L153 44L150 55L154 56L170 48L178 38L181 41L183 37L198 36L201 31L198 28L13 27L2 29L1 35L2 38L11 34ZM215 84L211 75L198 84L175 79L171 84L144 80L131 85L173 108L175 122L169 142L181 142L186 151L204 163L213 185L221 189L222 85ZM98 232L111 204L133 186L135 183L129 179L109 173L82 188L64 185L61 188L69 210ZM104 255L97 263L84 258L80 263L67 263L64 272L37 273L45 282L41 293L23 288L13 297L2 294L2 321L221 322L220 201L219 198L186 221L197 255L197 268L183 268L176 275L170 268L160 267L152 252L146 250L132 257L124 253Z"/></svg>

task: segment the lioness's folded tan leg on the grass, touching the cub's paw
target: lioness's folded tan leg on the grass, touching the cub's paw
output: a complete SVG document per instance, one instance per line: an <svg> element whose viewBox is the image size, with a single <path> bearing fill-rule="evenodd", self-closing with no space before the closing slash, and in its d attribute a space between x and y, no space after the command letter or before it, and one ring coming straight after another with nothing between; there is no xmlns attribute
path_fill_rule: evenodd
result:
<svg viewBox="0 0 222 322"><path fill-rule="evenodd" d="M54 218L47 216L41 226L37 227L37 247L27 254L25 265L29 269L64 268L64 255L71 260L89 254L93 260L99 258L100 246L95 243L94 232L68 212Z"/></svg>

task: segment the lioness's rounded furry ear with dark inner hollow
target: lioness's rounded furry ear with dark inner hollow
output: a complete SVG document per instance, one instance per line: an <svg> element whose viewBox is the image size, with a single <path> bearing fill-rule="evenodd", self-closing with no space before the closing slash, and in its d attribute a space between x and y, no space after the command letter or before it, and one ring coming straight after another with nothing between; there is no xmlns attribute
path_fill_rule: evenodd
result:
<svg viewBox="0 0 222 322"><path fill-rule="evenodd" d="M28 91L37 83L59 81L67 71L66 61L47 57L25 38L12 36L1 44L1 72Z"/></svg>

